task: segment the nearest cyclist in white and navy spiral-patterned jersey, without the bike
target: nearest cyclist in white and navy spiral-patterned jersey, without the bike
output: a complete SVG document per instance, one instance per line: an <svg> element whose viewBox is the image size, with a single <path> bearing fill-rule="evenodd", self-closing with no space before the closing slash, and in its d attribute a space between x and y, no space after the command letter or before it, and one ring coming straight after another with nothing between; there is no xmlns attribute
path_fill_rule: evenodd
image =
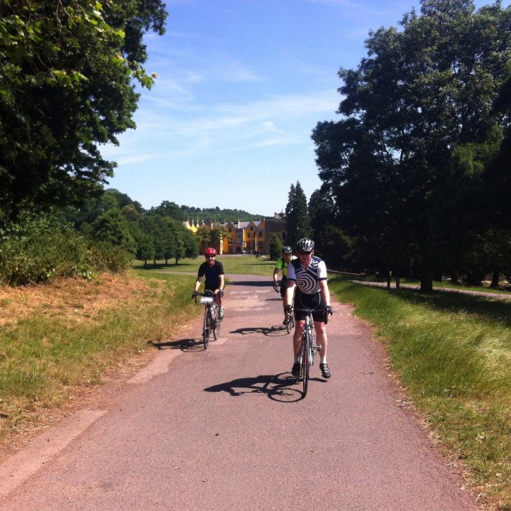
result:
<svg viewBox="0 0 511 511"><path fill-rule="evenodd" d="M291 261L287 267L287 290L284 297L287 314L292 314L293 294L295 293L295 307L304 309L326 309L312 313L314 329L317 334L318 344L322 346L319 351L319 368L323 378L330 378L331 373L326 363L326 322L333 313L330 306L330 291L326 282L326 265L324 260L314 255L314 241L309 238L302 238L297 243L298 259ZM295 363L292 366L293 376L300 375L300 345L302 344L302 333L305 323L305 313L295 312L296 328L293 336L293 351Z"/></svg>

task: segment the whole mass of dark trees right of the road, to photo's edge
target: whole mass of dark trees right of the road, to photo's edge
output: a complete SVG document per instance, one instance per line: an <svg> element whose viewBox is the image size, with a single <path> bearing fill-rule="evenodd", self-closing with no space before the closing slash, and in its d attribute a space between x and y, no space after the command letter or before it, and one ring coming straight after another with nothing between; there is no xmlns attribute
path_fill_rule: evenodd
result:
<svg viewBox="0 0 511 511"><path fill-rule="evenodd" d="M511 8L422 0L341 69L309 213L332 265L480 282L511 273ZM296 191L296 190L295 190Z"/></svg>

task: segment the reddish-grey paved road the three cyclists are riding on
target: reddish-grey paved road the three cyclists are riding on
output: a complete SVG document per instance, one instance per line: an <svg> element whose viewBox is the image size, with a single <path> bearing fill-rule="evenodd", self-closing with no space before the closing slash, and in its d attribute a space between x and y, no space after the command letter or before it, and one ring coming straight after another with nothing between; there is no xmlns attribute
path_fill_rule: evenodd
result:
<svg viewBox="0 0 511 511"><path fill-rule="evenodd" d="M473 511L414 423L385 356L334 302L329 365L309 392L270 278L229 275L221 337L195 322L0 464L0 509Z"/></svg>

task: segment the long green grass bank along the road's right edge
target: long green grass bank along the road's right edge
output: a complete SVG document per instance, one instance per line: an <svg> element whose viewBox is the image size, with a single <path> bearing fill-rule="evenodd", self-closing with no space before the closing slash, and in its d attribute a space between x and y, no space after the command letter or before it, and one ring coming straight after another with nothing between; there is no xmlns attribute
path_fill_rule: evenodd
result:
<svg viewBox="0 0 511 511"><path fill-rule="evenodd" d="M375 326L445 454L468 468L493 509L511 510L511 304L340 278L330 285Z"/></svg>

